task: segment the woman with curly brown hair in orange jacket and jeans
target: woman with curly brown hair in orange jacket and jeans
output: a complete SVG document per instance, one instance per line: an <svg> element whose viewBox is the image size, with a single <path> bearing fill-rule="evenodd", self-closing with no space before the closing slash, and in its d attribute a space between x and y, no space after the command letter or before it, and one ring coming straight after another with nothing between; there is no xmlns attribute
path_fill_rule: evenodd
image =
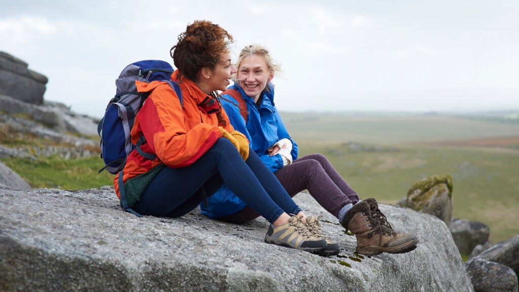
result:
<svg viewBox="0 0 519 292"><path fill-rule="evenodd" d="M228 48L232 42L210 21L195 21L178 36L170 50L177 68L171 79L180 85L183 103L166 82L135 82L149 96L136 115L132 142L143 135L141 150L157 158L148 160L135 150L128 156L122 179L126 192L129 182L149 181L130 207L142 215L179 217L225 183L271 223L265 242L320 253L326 241L310 235L301 221L306 215L221 108L216 90L225 90L236 73Z"/></svg>

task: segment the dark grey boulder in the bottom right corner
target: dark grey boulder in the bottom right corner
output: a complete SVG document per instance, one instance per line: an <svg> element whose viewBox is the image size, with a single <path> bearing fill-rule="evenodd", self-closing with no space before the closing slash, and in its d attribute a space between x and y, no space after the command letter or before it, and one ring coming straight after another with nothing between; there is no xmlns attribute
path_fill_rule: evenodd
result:
<svg viewBox="0 0 519 292"><path fill-rule="evenodd" d="M467 272L475 292L517 292L517 275L497 262L477 259L467 262Z"/></svg>

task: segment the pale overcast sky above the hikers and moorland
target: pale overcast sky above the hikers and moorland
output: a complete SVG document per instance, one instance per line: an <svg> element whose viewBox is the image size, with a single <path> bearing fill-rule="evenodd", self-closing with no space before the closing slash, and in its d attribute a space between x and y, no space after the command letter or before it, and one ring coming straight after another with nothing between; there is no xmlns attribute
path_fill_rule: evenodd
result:
<svg viewBox="0 0 519 292"><path fill-rule="evenodd" d="M0 0L0 50L45 99L101 117L129 63L169 56L196 19L282 66L281 111L519 109L519 1Z"/></svg>

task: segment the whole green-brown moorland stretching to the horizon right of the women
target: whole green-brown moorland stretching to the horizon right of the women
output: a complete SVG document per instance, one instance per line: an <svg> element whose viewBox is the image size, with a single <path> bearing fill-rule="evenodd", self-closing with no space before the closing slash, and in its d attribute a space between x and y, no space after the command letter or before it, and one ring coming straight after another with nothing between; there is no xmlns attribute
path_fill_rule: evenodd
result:
<svg viewBox="0 0 519 292"><path fill-rule="evenodd" d="M395 204L419 179L450 174L455 218L489 225L493 243L519 234L519 125L438 115L282 116L301 155L325 154L361 197Z"/></svg>

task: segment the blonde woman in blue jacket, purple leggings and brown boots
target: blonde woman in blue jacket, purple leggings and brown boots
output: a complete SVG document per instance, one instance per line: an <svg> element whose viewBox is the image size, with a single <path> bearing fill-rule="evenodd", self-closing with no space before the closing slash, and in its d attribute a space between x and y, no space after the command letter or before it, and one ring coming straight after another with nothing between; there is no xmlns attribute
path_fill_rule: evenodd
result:
<svg viewBox="0 0 519 292"><path fill-rule="evenodd" d="M251 149L274 172L290 196L308 190L344 228L356 234L359 254L397 254L416 248L418 238L412 233L395 232L377 201L374 198L361 201L324 155L297 157L297 144L274 105L271 80L280 68L268 50L260 45L244 47L236 68L235 84L222 92L223 108L231 124L247 136ZM202 214L214 219L243 224L260 216L225 185L208 203L200 206ZM319 219L310 216L303 220L312 233L322 234Z"/></svg>

